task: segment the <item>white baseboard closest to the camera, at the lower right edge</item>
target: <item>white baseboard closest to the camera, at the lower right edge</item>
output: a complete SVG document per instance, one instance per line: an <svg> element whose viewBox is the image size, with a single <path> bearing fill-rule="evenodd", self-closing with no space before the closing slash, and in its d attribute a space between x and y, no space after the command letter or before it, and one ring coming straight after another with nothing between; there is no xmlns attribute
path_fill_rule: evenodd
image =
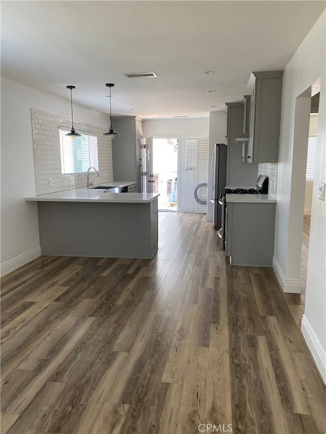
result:
<svg viewBox="0 0 326 434"><path fill-rule="evenodd" d="M301 321L301 332L307 342L310 353L316 363L323 382L326 384L326 350L322 347L314 329L307 320L306 315L303 315Z"/></svg>

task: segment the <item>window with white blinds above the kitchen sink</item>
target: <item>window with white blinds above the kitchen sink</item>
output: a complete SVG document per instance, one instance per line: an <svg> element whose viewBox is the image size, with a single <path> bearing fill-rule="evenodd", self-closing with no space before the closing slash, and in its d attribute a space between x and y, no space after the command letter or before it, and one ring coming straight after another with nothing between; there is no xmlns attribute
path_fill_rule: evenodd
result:
<svg viewBox="0 0 326 434"><path fill-rule="evenodd" d="M82 134L72 138L65 135L67 132L59 129L62 175L86 173L91 166L98 170L97 136Z"/></svg>

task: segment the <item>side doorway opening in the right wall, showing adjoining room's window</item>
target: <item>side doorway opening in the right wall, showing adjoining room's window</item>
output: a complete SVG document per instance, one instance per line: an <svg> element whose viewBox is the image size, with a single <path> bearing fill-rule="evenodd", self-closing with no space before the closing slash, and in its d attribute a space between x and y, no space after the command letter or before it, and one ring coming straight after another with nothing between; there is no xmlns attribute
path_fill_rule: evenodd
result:
<svg viewBox="0 0 326 434"><path fill-rule="evenodd" d="M317 142L317 115L319 111L320 79L295 99L293 155L291 174L290 214L288 222L287 273L284 284L286 299L299 328L305 312L306 291L311 291L309 244L311 239L310 214L314 223L316 202L315 151ZM316 101L318 103L316 104ZM316 165L317 166L317 165ZM313 184L315 184L313 186ZM287 286L286 286L287 285ZM290 290L290 291L288 291Z"/></svg>

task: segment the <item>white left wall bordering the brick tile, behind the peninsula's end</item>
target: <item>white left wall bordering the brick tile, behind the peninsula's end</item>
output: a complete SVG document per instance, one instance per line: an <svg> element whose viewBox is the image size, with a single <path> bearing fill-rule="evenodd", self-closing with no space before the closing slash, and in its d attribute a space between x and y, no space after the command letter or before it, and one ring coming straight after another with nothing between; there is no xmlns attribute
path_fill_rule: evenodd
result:
<svg viewBox="0 0 326 434"><path fill-rule="evenodd" d="M77 89L76 89L77 92ZM69 98L69 94L67 95ZM70 117L70 101L1 77L1 273L40 255L31 108ZM107 116L74 105L76 120L107 128Z"/></svg>

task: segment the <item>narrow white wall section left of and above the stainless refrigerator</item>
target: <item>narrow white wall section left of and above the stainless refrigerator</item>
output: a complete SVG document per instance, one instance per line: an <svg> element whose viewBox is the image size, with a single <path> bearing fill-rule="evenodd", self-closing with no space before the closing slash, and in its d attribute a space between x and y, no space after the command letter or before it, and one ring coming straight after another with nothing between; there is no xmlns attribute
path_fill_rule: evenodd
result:
<svg viewBox="0 0 326 434"><path fill-rule="evenodd" d="M207 220L213 221L213 197L210 163L214 152L215 143L226 143L227 114L224 110L211 111L209 113L209 150L208 150L208 190L207 190Z"/></svg>

